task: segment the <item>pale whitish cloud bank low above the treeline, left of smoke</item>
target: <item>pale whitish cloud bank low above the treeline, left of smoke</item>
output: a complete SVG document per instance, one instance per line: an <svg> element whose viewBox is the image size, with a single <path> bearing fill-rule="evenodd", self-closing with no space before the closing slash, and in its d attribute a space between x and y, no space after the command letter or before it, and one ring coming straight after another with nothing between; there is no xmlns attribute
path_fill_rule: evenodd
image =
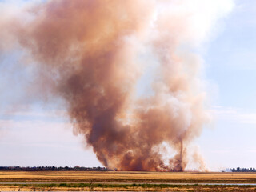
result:
<svg viewBox="0 0 256 192"><path fill-rule="evenodd" d="M84 146L82 135L73 134L72 125L66 121L52 121L47 110L22 113L26 118L10 114L0 117L0 129L5 134L0 139L0 150L4 158L0 164L6 166L102 166L93 151ZM48 117L48 118L47 118ZM3 131L0 132L2 134Z"/></svg>

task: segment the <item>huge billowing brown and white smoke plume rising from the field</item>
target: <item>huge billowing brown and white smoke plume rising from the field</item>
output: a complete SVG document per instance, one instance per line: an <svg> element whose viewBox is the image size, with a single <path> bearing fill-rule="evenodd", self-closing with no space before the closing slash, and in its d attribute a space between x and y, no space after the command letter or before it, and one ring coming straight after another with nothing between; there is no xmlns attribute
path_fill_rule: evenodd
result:
<svg viewBox="0 0 256 192"><path fill-rule="evenodd" d="M184 170L193 159L205 166L187 148L208 115L193 50L230 4L54 0L0 20L0 35L16 38L37 63L36 86L66 101L75 131L104 166ZM151 88L141 95L148 69ZM172 151L167 159L162 145Z"/></svg>

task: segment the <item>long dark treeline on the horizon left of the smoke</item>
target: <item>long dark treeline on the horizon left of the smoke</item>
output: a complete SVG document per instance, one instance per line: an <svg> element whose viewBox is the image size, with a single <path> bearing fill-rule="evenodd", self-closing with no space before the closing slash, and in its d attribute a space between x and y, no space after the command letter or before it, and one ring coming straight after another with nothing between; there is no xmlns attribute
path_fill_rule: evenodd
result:
<svg viewBox="0 0 256 192"><path fill-rule="evenodd" d="M14 170L14 171L106 171L106 167L84 167L84 166L0 166L1 170Z"/></svg>

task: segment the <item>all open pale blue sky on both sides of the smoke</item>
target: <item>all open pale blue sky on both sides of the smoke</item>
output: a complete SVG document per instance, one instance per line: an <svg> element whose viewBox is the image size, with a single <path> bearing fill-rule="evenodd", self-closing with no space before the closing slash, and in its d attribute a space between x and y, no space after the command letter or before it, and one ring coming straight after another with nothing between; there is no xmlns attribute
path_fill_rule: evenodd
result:
<svg viewBox="0 0 256 192"><path fill-rule="evenodd" d="M200 53L210 95L208 110L214 119L194 144L210 170L256 167L255 18L254 0L234 1L233 10L220 19L218 31ZM22 74L15 75L10 66L18 62L19 54L1 58L0 90L6 93L0 94L0 109L18 100L25 82L15 78L29 73L21 69ZM65 109L56 110L56 101L26 102L32 104L17 104L0 114L0 166L102 166L82 136L72 130Z"/></svg>

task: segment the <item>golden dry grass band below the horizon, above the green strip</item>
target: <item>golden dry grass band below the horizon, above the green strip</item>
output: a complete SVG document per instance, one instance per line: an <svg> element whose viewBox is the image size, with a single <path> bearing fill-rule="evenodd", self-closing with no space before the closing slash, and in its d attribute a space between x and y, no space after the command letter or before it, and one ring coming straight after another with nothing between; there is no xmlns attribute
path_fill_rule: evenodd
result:
<svg viewBox="0 0 256 192"><path fill-rule="evenodd" d="M0 182L228 182L256 183L256 173L220 172L0 172Z"/></svg>

